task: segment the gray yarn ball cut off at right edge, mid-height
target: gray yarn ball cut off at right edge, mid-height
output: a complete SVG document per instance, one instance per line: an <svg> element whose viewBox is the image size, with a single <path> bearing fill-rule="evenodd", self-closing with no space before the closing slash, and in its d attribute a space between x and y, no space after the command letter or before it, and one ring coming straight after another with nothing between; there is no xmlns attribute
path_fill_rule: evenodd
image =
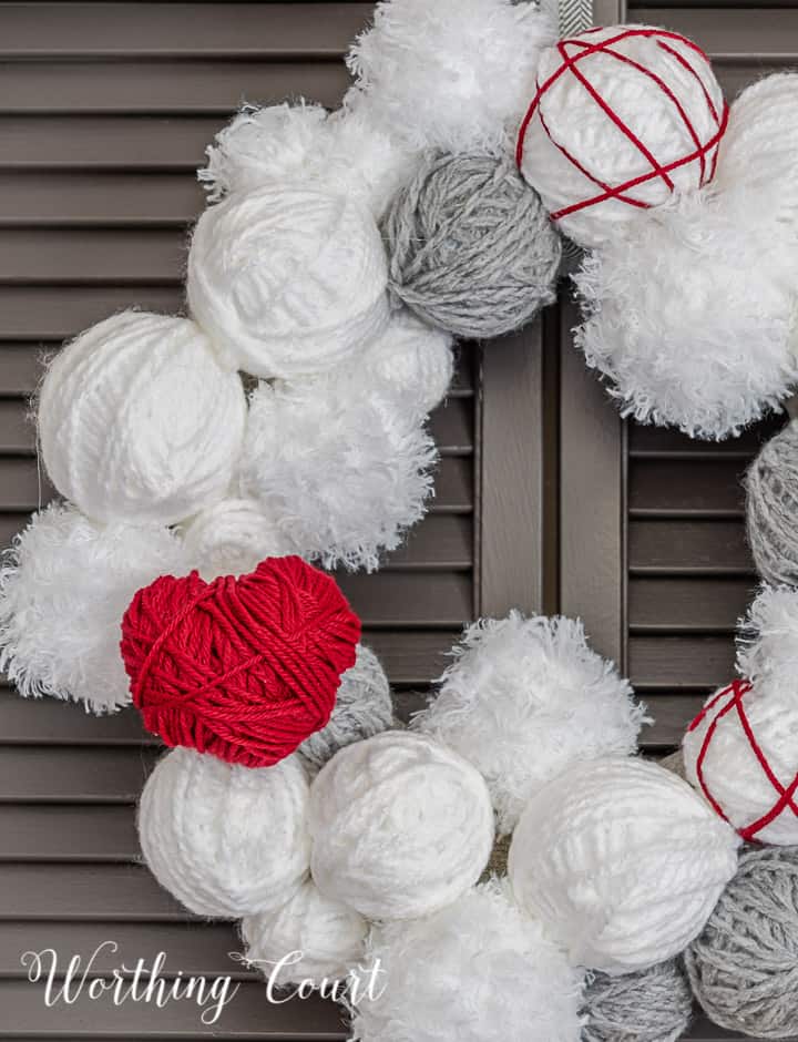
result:
<svg viewBox="0 0 798 1042"><path fill-rule="evenodd" d="M798 585L798 420L761 447L745 484L757 571L768 582Z"/></svg>

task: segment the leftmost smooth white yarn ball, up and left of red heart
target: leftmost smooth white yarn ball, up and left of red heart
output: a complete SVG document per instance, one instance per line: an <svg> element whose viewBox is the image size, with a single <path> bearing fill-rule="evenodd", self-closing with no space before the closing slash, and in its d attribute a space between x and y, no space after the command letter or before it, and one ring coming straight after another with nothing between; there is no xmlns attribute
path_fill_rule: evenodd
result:
<svg viewBox="0 0 798 1042"><path fill-rule="evenodd" d="M185 318L123 311L64 347L39 396L58 491L99 521L182 521L225 493L246 397Z"/></svg>

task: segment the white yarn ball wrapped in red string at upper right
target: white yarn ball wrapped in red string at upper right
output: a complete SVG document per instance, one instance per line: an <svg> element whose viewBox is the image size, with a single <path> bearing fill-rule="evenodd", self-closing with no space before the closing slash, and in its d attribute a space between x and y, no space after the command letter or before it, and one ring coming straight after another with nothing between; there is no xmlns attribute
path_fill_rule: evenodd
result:
<svg viewBox="0 0 798 1042"><path fill-rule="evenodd" d="M518 164L582 246L715 175L728 110L709 59L678 33L610 25L561 40L530 102Z"/></svg>

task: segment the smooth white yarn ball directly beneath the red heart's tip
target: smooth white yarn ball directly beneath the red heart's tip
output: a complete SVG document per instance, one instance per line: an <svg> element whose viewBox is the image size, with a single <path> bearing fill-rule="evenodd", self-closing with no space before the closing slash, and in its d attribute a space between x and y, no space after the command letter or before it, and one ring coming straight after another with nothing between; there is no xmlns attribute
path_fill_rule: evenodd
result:
<svg viewBox="0 0 798 1042"><path fill-rule="evenodd" d="M173 749L142 794L144 859L197 916L238 919L279 908L307 878L308 797L296 756L252 768Z"/></svg>

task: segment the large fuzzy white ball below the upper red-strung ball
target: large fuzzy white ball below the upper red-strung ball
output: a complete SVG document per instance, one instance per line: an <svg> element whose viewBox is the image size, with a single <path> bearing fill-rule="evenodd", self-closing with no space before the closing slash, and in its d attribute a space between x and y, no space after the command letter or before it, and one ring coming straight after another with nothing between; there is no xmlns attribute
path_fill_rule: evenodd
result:
<svg viewBox="0 0 798 1042"><path fill-rule="evenodd" d="M720 439L798 380L798 251L754 194L652 210L587 256L575 282L576 343L624 416Z"/></svg>

